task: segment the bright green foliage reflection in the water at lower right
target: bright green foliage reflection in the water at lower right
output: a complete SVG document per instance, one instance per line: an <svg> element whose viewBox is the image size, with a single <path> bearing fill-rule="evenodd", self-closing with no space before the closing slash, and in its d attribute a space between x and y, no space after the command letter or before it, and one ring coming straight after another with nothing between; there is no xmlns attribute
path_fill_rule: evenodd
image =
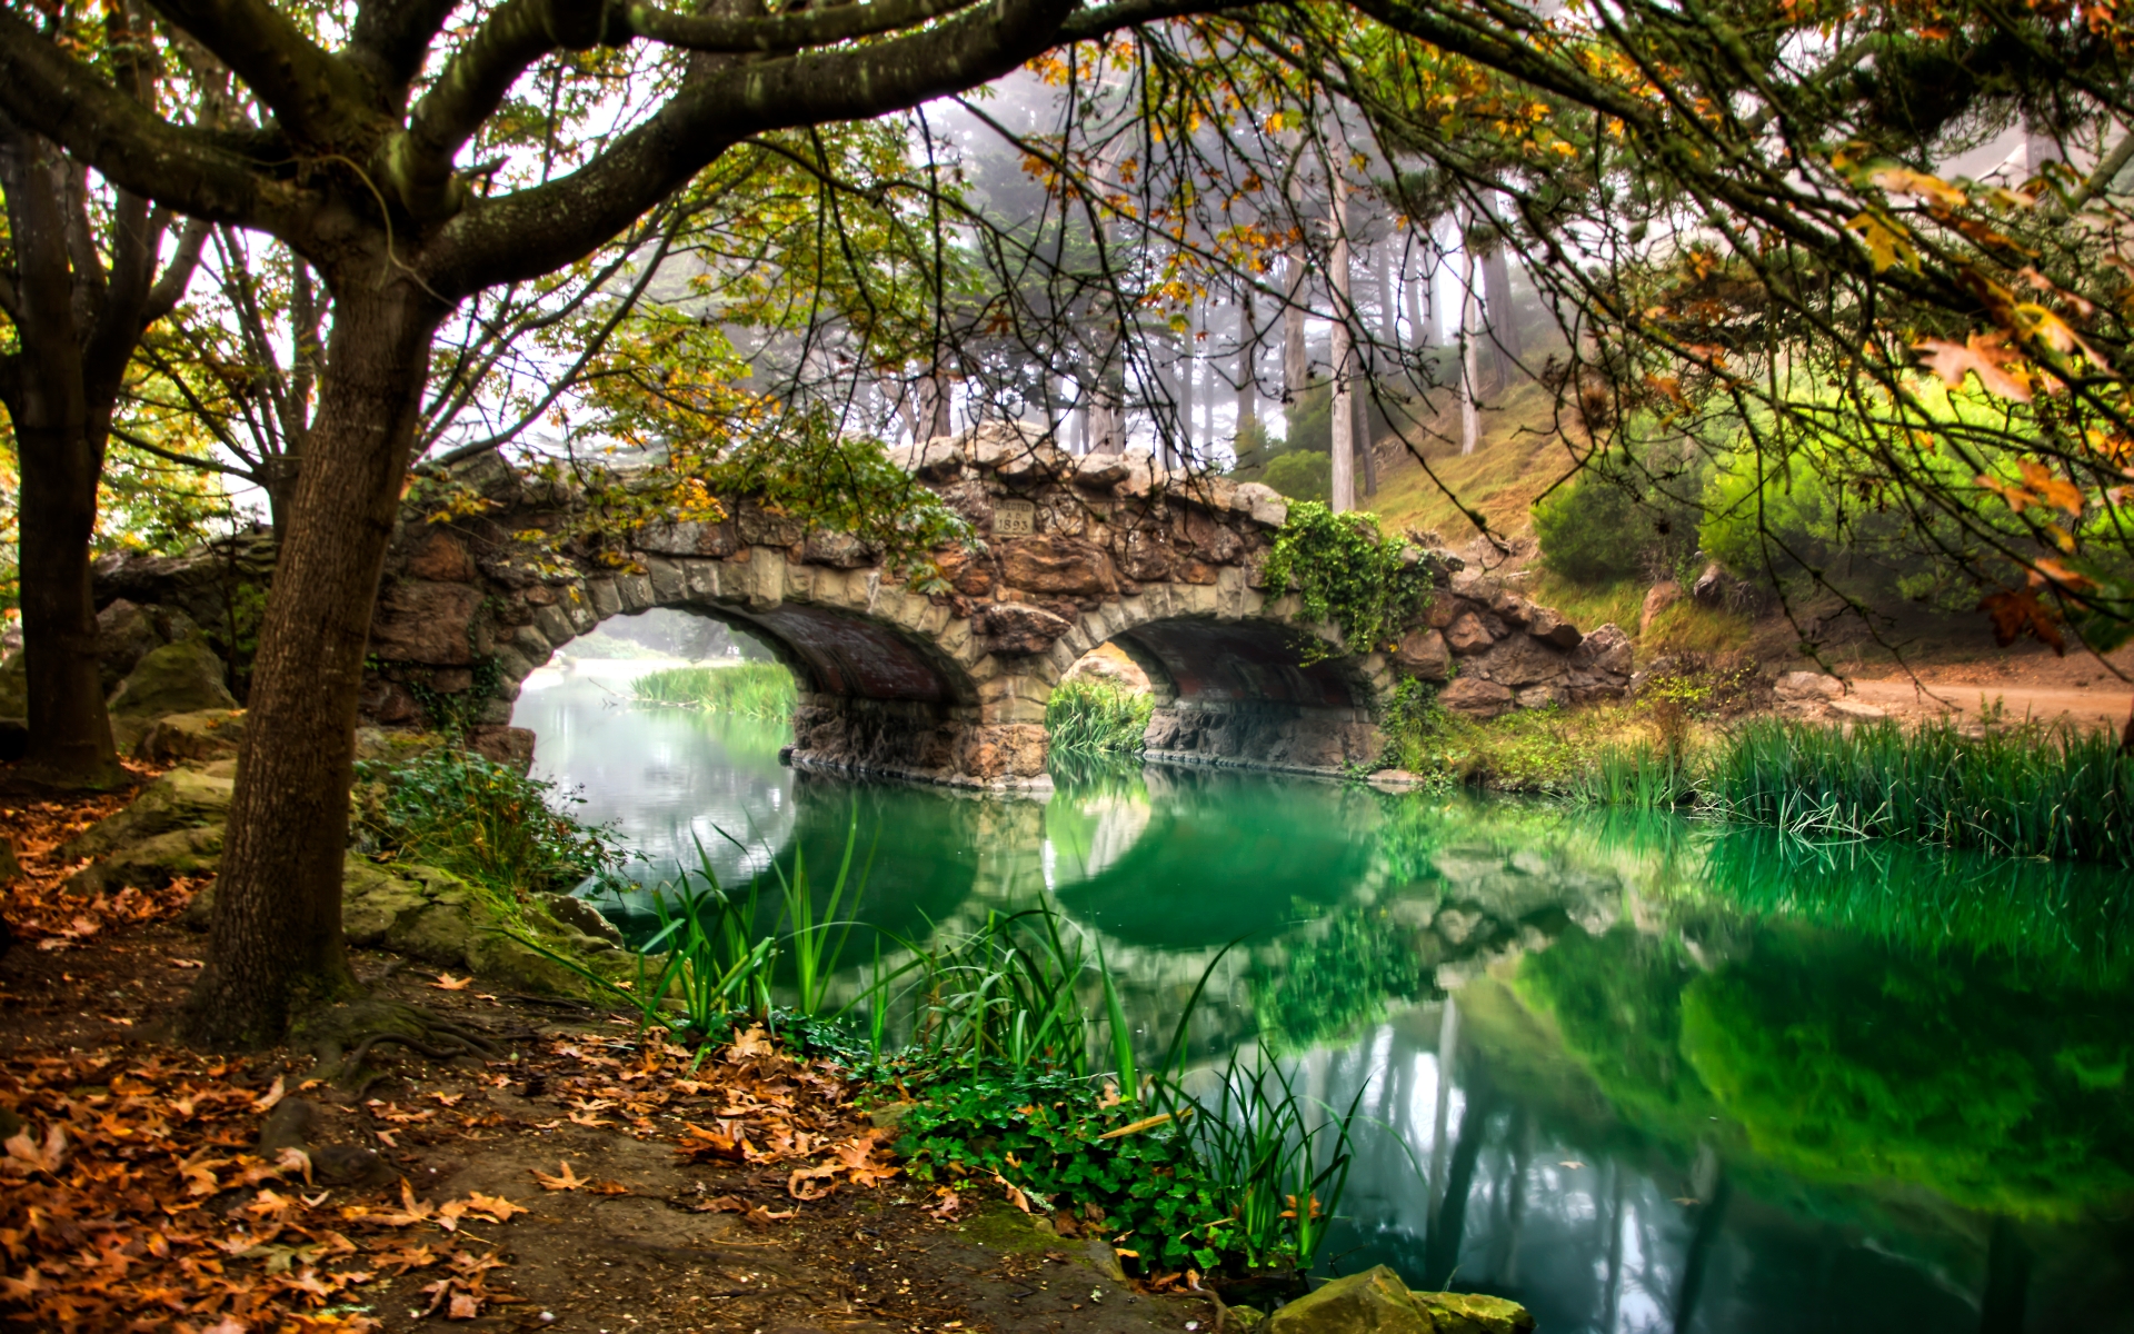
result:
<svg viewBox="0 0 2134 1334"><path fill-rule="evenodd" d="M1724 1114L1765 1172L2017 1217L2134 1193L2121 997L1786 926L1746 939L1701 973L1628 928L1568 935L1517 986L1624 1121L1684 1150Z"/></svg>

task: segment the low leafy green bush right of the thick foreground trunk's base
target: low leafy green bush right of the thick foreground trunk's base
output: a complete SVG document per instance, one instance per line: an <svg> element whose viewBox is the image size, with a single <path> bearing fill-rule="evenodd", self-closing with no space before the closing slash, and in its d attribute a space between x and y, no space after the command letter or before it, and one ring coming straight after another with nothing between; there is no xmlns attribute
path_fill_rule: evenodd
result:
<svg viewBox="0 0 2134 1334"><path fill-rule="evenodd" d="M506 909L621 864L610 828L555 809L555 783L440 747L356 764L356 830L378 852L459 875Z"/></svg>

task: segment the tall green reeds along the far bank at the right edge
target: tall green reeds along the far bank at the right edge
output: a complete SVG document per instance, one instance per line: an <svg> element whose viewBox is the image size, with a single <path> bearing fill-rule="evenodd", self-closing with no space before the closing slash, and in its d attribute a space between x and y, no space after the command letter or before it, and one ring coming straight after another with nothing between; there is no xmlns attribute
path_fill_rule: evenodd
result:
<svg viewBox="0 0 2134 1334"><path fill-rule="evenodd" d="M1735 820L1803 835L2134 867L2134 756L2106 732L1756 719L1711 751L1699 788Z"/></svg>

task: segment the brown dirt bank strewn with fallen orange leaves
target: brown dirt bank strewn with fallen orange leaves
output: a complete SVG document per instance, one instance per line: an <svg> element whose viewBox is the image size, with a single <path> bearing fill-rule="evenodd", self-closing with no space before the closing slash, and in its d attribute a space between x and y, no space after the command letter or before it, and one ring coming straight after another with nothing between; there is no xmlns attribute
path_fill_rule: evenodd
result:
<svg viewBox="0 0 2134 1334"><path fill-rule="evenodd" d="M36 856L26 869L51 871ZM499 1054L435 1061L382 1046L369 1059L382 1078L350 1095L309 1082L309 1052L173 1046L169 1016L203 950L175 922L113 920L0 958L0 1108L28 1123L0 1155L0 1195L19 1191L19 1206L47 1191L26 1214L0 1202L0 1308L32 1328L1216 1328L1208 1300L1105 1276L1090 1242L1041 1232L992 1189L909 1180L888 1161L888 1133L822 1063L738 1044L691 1069L615 1016L359 954L373 995L482 1033ZM207 1114L216 1095L220 1121ZM303 1146L318 1180L271 1176L260 1136L292 1099L316 1108ZM128 1125L128 1106L154 1114ZM62 1142L47 1129L55 1108L70 1116ZM175 1168L169 1197L107 1191L158 1180L152 1159ZM333 1185L335 1168L363 1185ZM53 1206L68 1180L75 1204ZM282 1244L265 1244L277 1223ZM181 1242L196 1244L190 1257ZM339 1249L335 1274L324 1257ZM79 1293L55 1298L64 1285ZM275 1304L260 1306L267 1289ZM305 1308L318 1323L282 1323Z"/></svg>

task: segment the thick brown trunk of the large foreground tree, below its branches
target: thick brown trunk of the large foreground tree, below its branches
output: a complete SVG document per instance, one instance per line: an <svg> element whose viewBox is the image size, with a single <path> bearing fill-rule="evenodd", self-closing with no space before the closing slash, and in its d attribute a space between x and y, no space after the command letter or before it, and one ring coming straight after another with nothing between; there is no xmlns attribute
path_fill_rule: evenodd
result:
<svg viewBox="0 0 2134 1334"><path fill-rule="evenodd" d="M448 307L412 282L337 284L318 418L275 561L216 877L209 967L186 1031L265 1044L354 986L341 858L371 604Z"/></svg>

